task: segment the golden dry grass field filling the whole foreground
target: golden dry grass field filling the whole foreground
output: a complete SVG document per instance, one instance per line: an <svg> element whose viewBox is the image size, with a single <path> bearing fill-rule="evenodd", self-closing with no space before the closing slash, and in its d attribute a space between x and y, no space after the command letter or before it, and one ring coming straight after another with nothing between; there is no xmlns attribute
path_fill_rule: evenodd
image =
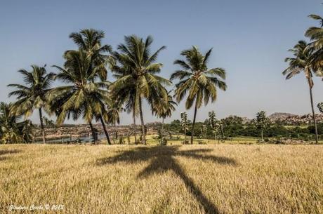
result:
<svg viewBox="0 0 323 214"><path fill-rule="evenodd" d="M323 146L0 145L0 213L323 213Z"/></svg>

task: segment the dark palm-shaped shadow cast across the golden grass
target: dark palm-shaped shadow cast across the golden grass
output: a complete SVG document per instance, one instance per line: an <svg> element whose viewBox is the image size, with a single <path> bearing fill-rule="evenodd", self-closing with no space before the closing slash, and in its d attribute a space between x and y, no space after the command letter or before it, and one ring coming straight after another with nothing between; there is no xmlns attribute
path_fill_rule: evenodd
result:
<svg viewBox="0 0 323 214"><path fill-rule="evenodd" d="M218 208L206 198L202 191L195 185L194 181L189 178L183 168L176 161L176 156L194 158L201 161L213 161L220 164L228 164L235 166L237 163L234 159L223 156L210 156L203 153L211 152L212 149L191 149L180 151L178 146L157 146L157 147L138 147L132 151L121 152L121 154L98 160L98 165L112 164L118 162L138 163L143 161L152 162L144 170L142 170L137 178L145 178L153 173L164 173L167 170L173 170L178 177L183 180L187 190L195 197L200 206L204 208L206 213L219 213Z"/></svg>

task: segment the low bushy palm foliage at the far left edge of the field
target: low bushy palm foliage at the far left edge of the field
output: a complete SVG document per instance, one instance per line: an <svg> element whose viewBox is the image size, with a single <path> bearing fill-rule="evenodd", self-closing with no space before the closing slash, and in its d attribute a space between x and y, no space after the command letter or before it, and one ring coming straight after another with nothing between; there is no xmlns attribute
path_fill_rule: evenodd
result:
<svg viewBox="0 0 323 214"><path fill-rule="evenodd" d="M0 142L32 142L34 125L29 120L19 122L20 116L11 113L12 106L12 104L0 102Z"/></svg>

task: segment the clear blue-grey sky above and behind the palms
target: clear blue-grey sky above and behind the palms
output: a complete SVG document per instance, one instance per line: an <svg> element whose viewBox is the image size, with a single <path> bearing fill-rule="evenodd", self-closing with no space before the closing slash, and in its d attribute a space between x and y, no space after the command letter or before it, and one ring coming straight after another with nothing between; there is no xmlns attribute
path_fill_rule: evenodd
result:
<svg viewBox="0 0 323 214"><path fill-rule="evenodd" d="M105 31L105 44L116 48L123 36L152 35L154 48L167 46L159 55L162 76L176 69L173 60L192 45L202 51L213 47L209 67L227 71L228 91L216 103L199 109L198 121L214 110L253 117L263 109L273 112L310 112L308 86L300 74L284 80L287 50L305 29L317 25L307 16L322 15L322 1L1 1L0 3L0 100L8 99L8 83L21 83L18 69L29 65L62 65L62 53L76 48L71 32L94 28ZM48 67L51 71L55 69ZM323 82L315 78L315 102L323 101ZM171 119L184 111L181 102ZM145 107L145 120L157 121ZM192 116L192 109L187 111ZM38 123L38 116L32 116ZM81 121L79 121L81 122ZM130 123L123 115L122 123Z"/></svg>

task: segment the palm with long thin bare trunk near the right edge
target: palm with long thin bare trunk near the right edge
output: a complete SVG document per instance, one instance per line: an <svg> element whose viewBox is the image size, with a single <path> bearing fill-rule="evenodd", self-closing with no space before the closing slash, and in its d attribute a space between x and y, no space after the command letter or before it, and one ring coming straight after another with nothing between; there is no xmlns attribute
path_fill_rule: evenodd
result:
<svg viewBox="0 0 323 214"><path fill-rule="evenodd" d="M308 87L310 89L310 105L312 107L312 116L313 123L315 126L315 142L318 143L318 135L317 135L317 123L315 119L315 111L313 105L313 95L312 95L312 73L315 73L315 65L312 63L312 53L313 48L308 46L306 41L298 41L298 44L294 46L294 48L289 50L293 53L294 58L286 58L285 62L289 62L289 67L287 67L282 74L286 75L286 79L290 79L303 72L305 74L305 78L308 81Z"/></svg>

